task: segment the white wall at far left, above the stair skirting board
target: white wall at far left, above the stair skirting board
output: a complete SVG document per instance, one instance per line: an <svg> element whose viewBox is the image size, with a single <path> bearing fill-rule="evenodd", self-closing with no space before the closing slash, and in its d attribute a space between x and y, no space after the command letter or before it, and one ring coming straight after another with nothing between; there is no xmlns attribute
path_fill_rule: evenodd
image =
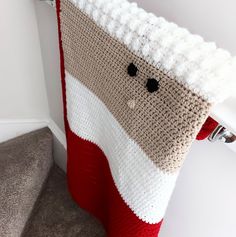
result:
<svg viewBox="0 0 236 237"><path fill-rule="evenodd" d="M0 122L48 118L32 0L0 0Z"/></svg>

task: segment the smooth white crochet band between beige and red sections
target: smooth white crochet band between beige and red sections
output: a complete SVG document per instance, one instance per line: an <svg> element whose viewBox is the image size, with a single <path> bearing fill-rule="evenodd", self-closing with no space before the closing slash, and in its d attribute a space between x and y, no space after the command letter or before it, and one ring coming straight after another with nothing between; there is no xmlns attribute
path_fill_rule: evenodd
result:
<svg viewBox="0 0 236 237"><path fill-rule="evenodd" d="M157 168L105 104L68 72L66 98L70 129L104 152L120 195L137 217L158 223L165 214L178 173L166 174Z"/></svg>

